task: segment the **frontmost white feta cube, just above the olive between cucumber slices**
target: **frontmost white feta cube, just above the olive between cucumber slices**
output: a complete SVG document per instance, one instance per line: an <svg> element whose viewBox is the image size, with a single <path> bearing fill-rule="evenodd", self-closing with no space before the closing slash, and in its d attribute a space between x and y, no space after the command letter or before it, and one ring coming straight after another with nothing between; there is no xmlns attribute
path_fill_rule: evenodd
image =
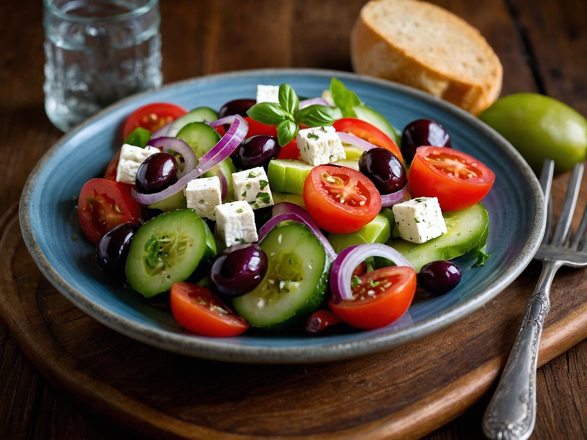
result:
<svg viewBox="0 0 587 440"><path fill-rule="evenodd" d="M215 232L224 240L227 248L240 243L256 242L259 236L251 205L244 200L218 205Z"/></svg>

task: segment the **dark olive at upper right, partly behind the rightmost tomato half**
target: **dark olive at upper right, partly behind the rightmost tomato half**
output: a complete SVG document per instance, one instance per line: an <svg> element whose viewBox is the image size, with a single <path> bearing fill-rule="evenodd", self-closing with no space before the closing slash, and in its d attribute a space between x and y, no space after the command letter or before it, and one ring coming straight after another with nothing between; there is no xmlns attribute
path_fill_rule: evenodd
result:
<svg viewBox="0 0 587 440"><path fill-rule="evenodd" d="M416 148L422 145L450 147L448 131L431 119L411 121L402 133L402 154L406 163L411 163L416 154Z"/></svg>

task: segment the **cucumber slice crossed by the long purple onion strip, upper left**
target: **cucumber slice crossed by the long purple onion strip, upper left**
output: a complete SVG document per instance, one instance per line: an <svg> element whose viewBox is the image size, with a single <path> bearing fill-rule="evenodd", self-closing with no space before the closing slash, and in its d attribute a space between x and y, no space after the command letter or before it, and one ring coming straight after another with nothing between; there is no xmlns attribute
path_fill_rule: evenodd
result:
<svg viewBox="0 0 587 440"><path fill-rule="evenodd" d="M188 113L189 114L189 113ZM187 116L187 115L185 115ZM214 128L204 122L190 122L177 133L177 137L190 145L196 157L200 158L208 153L220 140L220 134ZM220 164L211 170L206 171L202 177L218 176L226 179L228 185L225 200L234 200L234 188L232 188L232 173L237 171L230 157L227 157Z"/></svg>

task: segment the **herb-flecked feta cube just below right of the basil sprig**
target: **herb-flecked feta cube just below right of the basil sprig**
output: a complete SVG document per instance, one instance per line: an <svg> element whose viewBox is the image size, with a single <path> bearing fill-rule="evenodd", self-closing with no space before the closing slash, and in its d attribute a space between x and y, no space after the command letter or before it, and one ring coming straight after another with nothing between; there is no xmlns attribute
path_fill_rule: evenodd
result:
<svg viewBox="0 0 587 440"><path fill-rule="evenodd" d="M346 159L345 148L332 126L310 127L296 135L299 154L310 165L322 165Z"/></svg>

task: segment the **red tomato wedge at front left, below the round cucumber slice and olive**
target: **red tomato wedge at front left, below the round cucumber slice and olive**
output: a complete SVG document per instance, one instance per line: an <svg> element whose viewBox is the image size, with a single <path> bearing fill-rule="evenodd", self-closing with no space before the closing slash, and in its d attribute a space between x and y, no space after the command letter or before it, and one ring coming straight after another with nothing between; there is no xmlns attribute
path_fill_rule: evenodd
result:
<svg viewBox="0 0 587 440"><path fill-rule="evenodd" d="M171 313L178 324L194 333L226 337L237 336L249 328L247 321L232 313L206 287L175 283L171 286L169 299Z"/></svg>

